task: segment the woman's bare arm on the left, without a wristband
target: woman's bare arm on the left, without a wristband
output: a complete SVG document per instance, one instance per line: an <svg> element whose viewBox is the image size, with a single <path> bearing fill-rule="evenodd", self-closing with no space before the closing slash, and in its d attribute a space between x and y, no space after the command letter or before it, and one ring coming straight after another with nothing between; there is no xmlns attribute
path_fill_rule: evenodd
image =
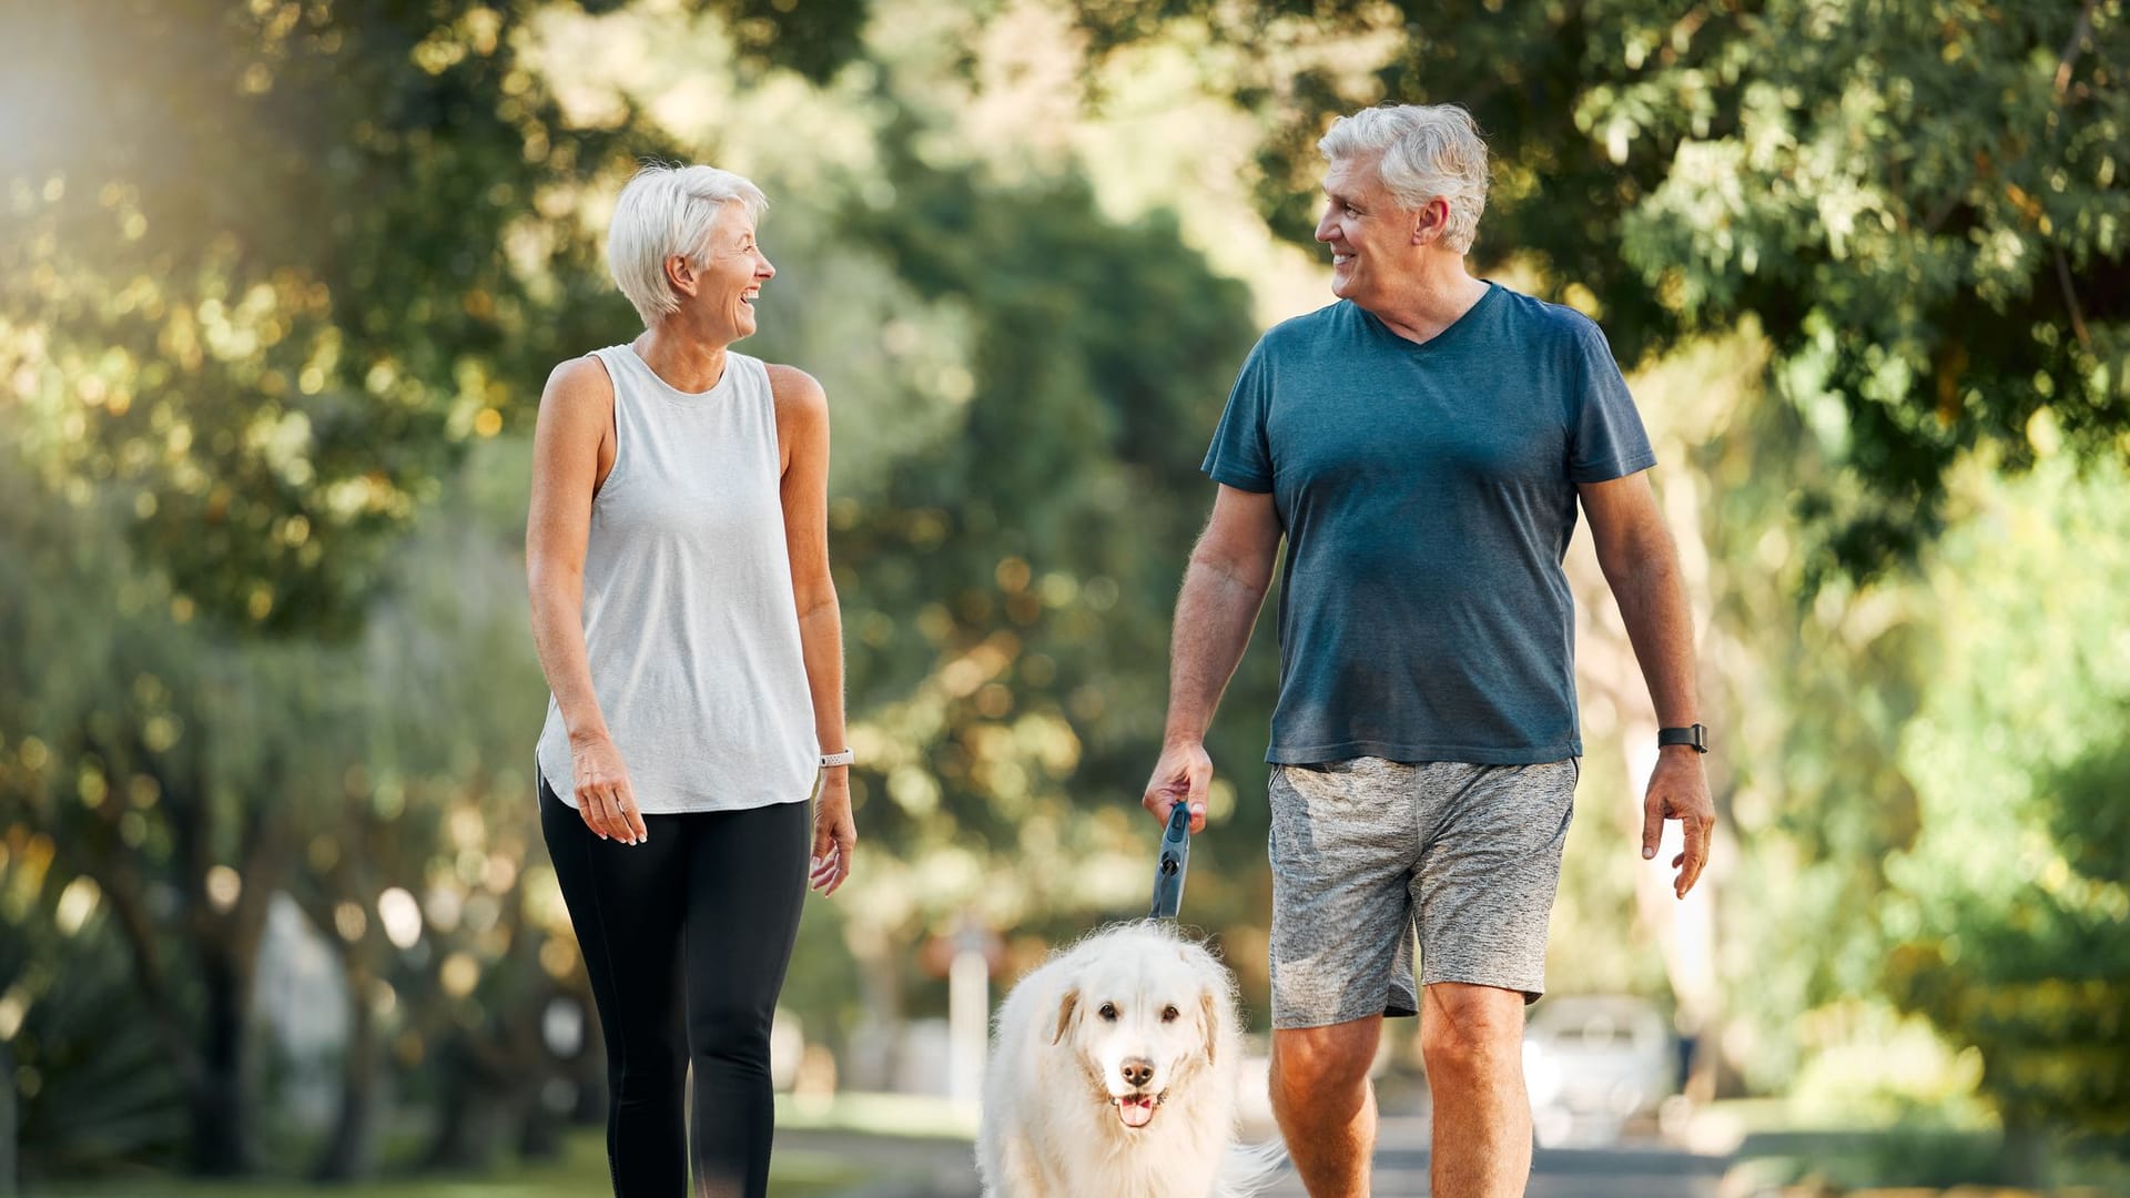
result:
<svg viewBox="0 0 2130 1198"><path fill-rule="evenodd" d="M526 512L526 588L532 648L569 729L577 812L603 838L645 836L628 770L607 733L584 650L584 546L592 497L613 469L613 382L596 358L547 375L532 433L532 505Z"/></svg>

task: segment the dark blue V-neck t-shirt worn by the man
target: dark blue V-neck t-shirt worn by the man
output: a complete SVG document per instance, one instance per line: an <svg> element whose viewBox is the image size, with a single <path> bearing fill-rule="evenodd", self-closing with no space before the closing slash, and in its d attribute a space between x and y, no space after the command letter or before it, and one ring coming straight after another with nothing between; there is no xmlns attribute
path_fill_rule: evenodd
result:
<svg viewBox="0 0 2130 1198"><path fill-rule="evenodd" d="M1578 757L1576 484L1655 463L1574 309L1489 284L1427 343L1346 301L1265 333L1203 467L1287 531L1265 759Z"/></svg>

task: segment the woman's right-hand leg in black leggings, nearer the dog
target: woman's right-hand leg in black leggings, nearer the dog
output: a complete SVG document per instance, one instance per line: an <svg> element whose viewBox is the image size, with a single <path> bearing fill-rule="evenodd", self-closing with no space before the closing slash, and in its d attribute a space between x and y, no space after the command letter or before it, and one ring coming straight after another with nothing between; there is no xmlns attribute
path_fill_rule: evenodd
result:
<svg viewBox="0 0 2130 1198"><path fill-rule="evenodd" d="M769 1192L769 1021L805 906L809 804L699 821L688 861L688 1049L701 1198Z"/></svg>

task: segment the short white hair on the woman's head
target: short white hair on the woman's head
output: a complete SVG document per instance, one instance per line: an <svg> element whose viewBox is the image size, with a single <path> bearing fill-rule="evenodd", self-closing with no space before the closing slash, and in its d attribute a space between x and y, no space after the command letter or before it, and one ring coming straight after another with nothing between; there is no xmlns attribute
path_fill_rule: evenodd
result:
<svg viewBox="0 0 2130 1198"><path fill-rule="evenodd" d="M748 220L763 220L769 196L748 179L716 166L648 162L622 188L607 226L607 273L650 328L679 307L667 286L667 258L682 254L697 266L724 205L739 200Z"/></svg>

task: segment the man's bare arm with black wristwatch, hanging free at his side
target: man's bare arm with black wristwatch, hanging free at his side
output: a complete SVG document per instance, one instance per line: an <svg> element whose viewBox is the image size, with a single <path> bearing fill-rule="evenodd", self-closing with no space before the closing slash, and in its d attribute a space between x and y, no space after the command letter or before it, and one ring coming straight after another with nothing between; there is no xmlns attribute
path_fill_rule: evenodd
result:
<svg viewBox="0 0 2130 1198"><path fill-rule="evenodd" d="M1583 514L1591 522L1598 565L1627 625L1627 640L1649 682L1649 701L1661 727L1700 723L1702 706L1693 682L1693 610L1678 578L1678 550L1664 527L1657 497L1649 490L1649 473L1638 471L1610 482L1585 482ZM1685 853L1672 859L1678 876L1672 893L1687 897L1702 868L1708 865L1708 840L1717 827L1715 804L1708 799L1708 776L1693 746L1668 744L1657 750L1657 767L1649 776L1642 799L1642 859L1657 855L1664 821L1676 819L1685 831Z"/></svg>

